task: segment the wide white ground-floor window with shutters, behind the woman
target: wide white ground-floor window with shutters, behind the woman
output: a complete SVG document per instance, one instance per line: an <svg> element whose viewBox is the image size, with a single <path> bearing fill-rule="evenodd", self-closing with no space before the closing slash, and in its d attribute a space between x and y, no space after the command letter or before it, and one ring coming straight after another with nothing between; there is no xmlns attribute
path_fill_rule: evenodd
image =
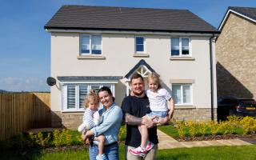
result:
<svg viewBox="0 0 256 160"><path fill-rule="evenodd" d="M86 95L89 91L98 91L102 86L110 87L114 94L114 84L64 84L62 86L62 110L83 111Z"/></svg>

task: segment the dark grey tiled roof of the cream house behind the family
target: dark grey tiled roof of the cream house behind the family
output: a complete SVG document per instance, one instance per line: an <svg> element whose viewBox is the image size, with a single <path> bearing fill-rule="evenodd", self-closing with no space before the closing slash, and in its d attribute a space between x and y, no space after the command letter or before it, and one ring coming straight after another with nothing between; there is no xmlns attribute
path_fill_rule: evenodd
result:
<svg viewBox="0 0 256 160"><path fill-rule="evenodd" d="M189 10L110 6L62 6L45 29L218 32Z"/></svg>

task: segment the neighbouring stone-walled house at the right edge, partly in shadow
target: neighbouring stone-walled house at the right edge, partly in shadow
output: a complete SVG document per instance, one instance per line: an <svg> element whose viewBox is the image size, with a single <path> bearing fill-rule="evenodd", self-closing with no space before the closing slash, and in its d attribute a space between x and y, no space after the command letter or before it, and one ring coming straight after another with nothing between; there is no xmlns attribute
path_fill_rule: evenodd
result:
<svg viewBox="0 0 256 160"><path fill-rule="evenodd" d="M218 30L218 97L256 96L256 8L229 7Z"/></svg>

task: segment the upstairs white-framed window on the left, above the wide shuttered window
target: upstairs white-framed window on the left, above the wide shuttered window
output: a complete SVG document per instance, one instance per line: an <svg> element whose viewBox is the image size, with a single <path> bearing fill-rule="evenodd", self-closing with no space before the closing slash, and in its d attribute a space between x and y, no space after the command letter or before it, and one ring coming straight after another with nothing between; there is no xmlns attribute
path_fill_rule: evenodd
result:
<svg viewBox="0 0 256 160"><path fill-rule="evenodd" d="M102 36L101 35L81 35L80 53L82 55L102 54Z"/></svg>

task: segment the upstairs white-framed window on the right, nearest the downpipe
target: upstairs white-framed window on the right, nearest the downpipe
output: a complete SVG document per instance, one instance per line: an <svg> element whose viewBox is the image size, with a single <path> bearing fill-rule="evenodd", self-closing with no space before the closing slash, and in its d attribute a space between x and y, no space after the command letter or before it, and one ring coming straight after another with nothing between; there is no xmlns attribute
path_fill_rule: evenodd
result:
<svg viewBox="0 0 256 160"><path fill-rule="evenodd" d="M191 56L189 38L171 38L171 56Z"/></svg>

